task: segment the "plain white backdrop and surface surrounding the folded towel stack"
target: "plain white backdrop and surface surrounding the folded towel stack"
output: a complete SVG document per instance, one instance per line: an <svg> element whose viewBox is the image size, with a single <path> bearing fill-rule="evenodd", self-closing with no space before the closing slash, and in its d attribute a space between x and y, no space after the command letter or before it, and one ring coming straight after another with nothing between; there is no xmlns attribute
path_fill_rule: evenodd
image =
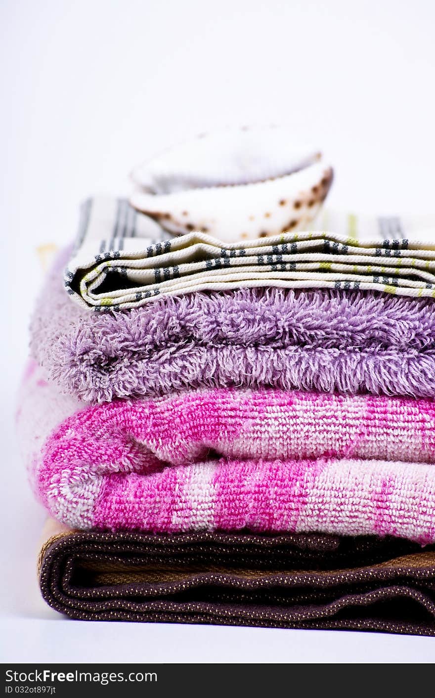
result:
<svg viewBox="0 0 435 698"><path fill-rule="evenodd" d="M334 205L433 211L431 0L0 0L3 661L429 662L435 639L68 621L39 599L44 514L13 431L35 248L148 154L225 124L283 123L335 166ZM24 283L24 276L27 281ZM29 289L29 292L27 292Z"/></svg>

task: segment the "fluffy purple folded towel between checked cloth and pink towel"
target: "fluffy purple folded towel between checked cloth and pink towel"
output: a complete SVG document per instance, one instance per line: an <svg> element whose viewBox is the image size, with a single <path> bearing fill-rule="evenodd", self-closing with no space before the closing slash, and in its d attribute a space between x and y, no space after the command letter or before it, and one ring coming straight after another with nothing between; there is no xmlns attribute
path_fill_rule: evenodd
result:
<svg viewBox="0 0 435 698"><path fill-rule="evenodd" d="M196 292L103 314L75 306L57 258L31 350L49 380L91 402L186 387L435 394L435 301L281 288Z"/></svg>

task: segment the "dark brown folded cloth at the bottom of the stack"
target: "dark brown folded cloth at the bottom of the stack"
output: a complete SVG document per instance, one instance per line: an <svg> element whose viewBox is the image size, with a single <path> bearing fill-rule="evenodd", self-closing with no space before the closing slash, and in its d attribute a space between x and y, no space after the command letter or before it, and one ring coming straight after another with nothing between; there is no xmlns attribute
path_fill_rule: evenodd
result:
<svg viewBox="0 0 435 698"><path fill-rule="evenodd" d="M86 621L435 634L435 550L398 539L62 530L39 579Z"/></svg>

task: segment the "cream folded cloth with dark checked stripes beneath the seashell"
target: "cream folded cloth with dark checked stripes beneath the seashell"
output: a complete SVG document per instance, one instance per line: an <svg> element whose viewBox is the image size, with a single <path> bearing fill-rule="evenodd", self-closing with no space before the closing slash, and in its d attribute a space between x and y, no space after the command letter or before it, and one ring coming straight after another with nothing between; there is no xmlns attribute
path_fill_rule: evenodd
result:
<svg viewBox="0 0 435 698"><path fill-rule="evenodd" d="M374 218L359 226L353 215L325 215L328 227L320 231L291 232L289 221L290 232L230 244L204 232L171 237L126 200L89 199L64 285L95 311L259 286L435 297L435 221Z"/></svg>

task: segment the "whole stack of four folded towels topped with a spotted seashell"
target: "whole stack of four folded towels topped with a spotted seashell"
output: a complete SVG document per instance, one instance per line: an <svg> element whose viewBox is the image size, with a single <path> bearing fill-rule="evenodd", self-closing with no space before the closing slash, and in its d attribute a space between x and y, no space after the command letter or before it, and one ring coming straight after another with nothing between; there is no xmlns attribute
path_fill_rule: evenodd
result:
<svg viewBox="0 0 435 698"><path fill-rule="evenodd" d="M88 620L435 634L430 228L319 214L317 153L277 149L264 179L242 158L248 184L218 160L219 188L195 147L184 179L173 154L140 168L134 207L86 202L38 299L17 423L52 517L43 596ZM260 206L270 227L242 235ZM334 232L300 232L314 214Z"/></svg>

